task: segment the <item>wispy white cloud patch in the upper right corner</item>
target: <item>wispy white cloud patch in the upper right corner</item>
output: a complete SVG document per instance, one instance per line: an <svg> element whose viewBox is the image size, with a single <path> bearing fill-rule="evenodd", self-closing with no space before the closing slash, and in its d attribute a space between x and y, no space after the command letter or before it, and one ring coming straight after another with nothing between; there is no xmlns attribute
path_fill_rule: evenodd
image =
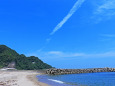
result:
<svg viewBox="0 0 115 86"><path fill-rule="evenodd" d="M102 4L97 6L95 15L101 16L98 20L102 20L102 18L111 18L115 15L115 0L103 0Z"/></svg>

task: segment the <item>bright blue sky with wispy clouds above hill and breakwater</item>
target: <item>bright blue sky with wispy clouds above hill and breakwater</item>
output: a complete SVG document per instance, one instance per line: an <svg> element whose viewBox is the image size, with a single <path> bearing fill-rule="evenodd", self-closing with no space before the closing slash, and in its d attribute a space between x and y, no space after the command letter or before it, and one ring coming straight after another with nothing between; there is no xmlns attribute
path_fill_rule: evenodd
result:
<svg viewBox="0 0 115 86"><path fill-rule="evenodd" d="M115 0L1 0L0 44L56 68L115 67Z"/></svg>

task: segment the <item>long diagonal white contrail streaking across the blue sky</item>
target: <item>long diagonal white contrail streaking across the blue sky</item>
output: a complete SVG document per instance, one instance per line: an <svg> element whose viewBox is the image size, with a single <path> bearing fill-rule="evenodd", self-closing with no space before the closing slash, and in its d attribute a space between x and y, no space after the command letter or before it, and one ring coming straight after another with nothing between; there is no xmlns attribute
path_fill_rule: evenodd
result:
<svg viewBox="0 0 115 86"><path fill-rule="evenodd" d="M78 1L76 1L76 3L72 7L72 9L69 11L67 16L65 16L63 18L63 20L53 29L53 31L50 33L50 35L53 35L55 32L57 32L64 25L64 23L66 23L66 21L77 11L77 9L81 7L81 5L82 5L82 3L84 1L85 0L78 0Z"/></svg>

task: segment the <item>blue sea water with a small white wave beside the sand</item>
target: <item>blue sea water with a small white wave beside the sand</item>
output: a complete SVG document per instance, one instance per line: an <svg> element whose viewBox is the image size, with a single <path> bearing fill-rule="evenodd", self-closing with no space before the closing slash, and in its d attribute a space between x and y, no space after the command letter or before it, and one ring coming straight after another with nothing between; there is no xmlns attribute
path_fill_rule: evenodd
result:
<svg viewBox="0 0 115 86"><path fill-rule="evenodd" d="M115 86L115 72L68 75L40 75L41 82L51 86Z"/></svg>

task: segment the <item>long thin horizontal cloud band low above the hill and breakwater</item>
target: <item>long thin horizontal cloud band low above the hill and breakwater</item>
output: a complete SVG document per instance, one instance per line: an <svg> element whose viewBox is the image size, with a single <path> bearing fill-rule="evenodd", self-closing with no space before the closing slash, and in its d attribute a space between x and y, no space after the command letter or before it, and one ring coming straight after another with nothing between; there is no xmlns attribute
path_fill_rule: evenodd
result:
<svg viewBox="0 0 115 86"><path fill-rule="evenodd" d="M72 53L72 52L62 52L62 51L49 51L49 52L35 52L26 54L27 56L38 56L43 58L110 58L115 57L114 51L104 52L104 53Z"/></svg>

